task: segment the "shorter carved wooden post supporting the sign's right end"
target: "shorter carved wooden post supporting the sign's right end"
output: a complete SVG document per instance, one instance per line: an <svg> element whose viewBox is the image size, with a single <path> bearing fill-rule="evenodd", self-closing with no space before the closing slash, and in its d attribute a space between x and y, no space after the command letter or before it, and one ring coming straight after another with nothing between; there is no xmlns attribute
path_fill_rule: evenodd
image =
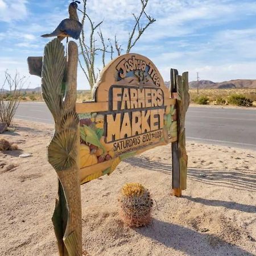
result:
<svg viewBox="0 0 256 256"><path fill-rule="evenodd" d="M189 106L188 72L179 76L171 69L171 97L176 98L177 141L172 142L172 194L180 197L187 188L188 156L185 148L185 114Z"/></svg>

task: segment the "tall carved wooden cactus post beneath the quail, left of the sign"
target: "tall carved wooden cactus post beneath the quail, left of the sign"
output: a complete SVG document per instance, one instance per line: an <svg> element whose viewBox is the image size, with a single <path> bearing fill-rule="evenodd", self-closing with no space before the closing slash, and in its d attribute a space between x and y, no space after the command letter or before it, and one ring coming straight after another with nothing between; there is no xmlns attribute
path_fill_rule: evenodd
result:
<svg viewBox="0 0 256 256"><path fill-rule="evenodd" d="M78 50L68 44L68 62L59 39L44 49L42 94L55 121L48 160L59 177L59 198L52 221L60 256L82 255L81 191L79 176L79 118L76 106Z"/></svg>

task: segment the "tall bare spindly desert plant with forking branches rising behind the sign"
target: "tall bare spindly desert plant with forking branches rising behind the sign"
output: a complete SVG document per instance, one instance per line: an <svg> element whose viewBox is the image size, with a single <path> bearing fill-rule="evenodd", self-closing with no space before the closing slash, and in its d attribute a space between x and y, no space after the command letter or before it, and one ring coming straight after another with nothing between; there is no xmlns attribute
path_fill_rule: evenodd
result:
<svg viewBox="0 0 256 256"><path fill-rule="evenodd" d="M134 24L131 32L127 38L127 46L125 47L125 52L129 53L131 48L135 46L138 40L141 38L143 32L155 22L155 19L152 18L150 15L146 13L146 7L148 5L149 0L140 0L141 1L141 10L139 15L134 16ZM105 59L106 55L108 54L110 59L113 59L114 53L117 56L121 55L123 48L118 43L117 35L115 35L114 41L111 39L105 39L104 35L101 32L100 26L103 23L103 20L98 23L94 24L90 16L86 13L86 0L83 0L84 8L82 10L82 32L80 35L80 59L79 64L84 72L86 79L89 82L90 88L92 89L93 85L95 84L98 71L95 67L95 60L98 57L98 52L101 52L102 57L102 66L105 67ZM89 20L90 28L85 29L85 19ZM146 20L142 22L142 20ZM85 31L90 31L90 36L85 36ZM101 46L96 46L96 36L100 39ZM89 38L89 42L86 39ZM85 63L85 64L84 64Z"/></svg>

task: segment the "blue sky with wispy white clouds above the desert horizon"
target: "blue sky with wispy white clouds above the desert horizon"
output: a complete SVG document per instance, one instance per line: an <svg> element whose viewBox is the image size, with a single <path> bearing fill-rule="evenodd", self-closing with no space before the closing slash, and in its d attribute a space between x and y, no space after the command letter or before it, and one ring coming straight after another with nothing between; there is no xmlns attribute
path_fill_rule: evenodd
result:
<svg viewBox="0 0 256 256"><path fill-rule="evenodd" d="M43 55L49 39L40 35L68 18L70 2L0 0L0 86L6 69L27 76L30 88L40 86L40 79L28 74L27 56ZM94 22L104 19L105 38L117 34L125 48L131 14L138 13L139 5L140 0L87 0L87 13ZM196 72L200 79L216 82L256 79L255 0L149 0L147 13L156 22L131 52L149 57L164 80L169 80L170 68L188 71L190 81ZM100 43L97 36L96 40ZM78 88L89 88L81 70Z"/></svg>

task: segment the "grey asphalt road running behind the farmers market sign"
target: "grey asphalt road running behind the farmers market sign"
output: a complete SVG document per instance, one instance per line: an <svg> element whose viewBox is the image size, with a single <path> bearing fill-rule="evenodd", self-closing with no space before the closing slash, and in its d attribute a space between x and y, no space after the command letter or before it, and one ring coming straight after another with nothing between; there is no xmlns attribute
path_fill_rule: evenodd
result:
<svg viewBox="0 0 256 256"><path fill-rule="evenodd" d="M44 102L20 102L15 118L53 123ZM190 106L186 117L188 140L256 150L256 110Z"/></svg>

